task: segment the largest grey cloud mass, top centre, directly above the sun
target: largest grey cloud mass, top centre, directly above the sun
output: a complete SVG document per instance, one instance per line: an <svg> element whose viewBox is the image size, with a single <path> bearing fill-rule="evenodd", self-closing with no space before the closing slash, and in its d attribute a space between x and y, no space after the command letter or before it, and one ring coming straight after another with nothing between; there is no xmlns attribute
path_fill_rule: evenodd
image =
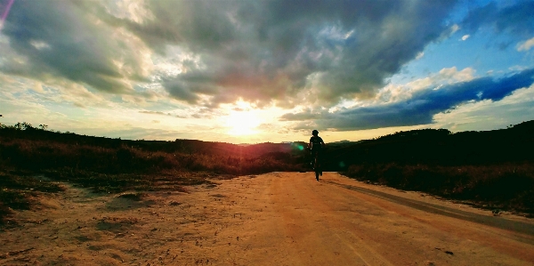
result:
<svg viewBox="0 0 534 266"><path fill-rule="evenodd" d="M291 108L302 93L323 105L372 97L449 31L443 20L455 2L147 1L142 20L96 13L162 56L179 47L198 58L160 77L174 99Z"/></svg>

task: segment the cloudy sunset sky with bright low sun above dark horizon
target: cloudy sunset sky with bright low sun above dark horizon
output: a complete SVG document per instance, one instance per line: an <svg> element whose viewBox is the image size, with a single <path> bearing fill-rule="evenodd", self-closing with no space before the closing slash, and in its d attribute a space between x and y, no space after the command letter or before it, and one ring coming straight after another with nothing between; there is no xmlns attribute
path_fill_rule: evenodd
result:
<svg viewBox="0 0 534 266"><path fill-rule="evenodd" d="M534 119L534 1L0 0L0 123L360 141Z"/></svg>

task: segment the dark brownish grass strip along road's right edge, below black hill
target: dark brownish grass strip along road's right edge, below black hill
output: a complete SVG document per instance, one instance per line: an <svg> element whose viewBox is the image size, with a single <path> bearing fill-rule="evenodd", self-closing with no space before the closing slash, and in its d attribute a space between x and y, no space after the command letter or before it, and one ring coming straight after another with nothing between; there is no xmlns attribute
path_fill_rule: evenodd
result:
<svg viewBox="0 0 534 266"><path fill-rule="evenodd" d="M534 214L534 165L351 165L344 175L396 189L422 191L473 206Z"/></svg>

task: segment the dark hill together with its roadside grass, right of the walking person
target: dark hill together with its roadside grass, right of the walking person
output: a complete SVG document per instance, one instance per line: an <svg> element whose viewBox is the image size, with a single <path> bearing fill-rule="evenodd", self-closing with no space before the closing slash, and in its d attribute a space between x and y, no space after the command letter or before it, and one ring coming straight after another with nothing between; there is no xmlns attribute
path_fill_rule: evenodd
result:
<svg viewBox="0 0 534 266"><path fill-rule="evenodd" d="M328 149L328 170L360 181L534 213L534 121L486 132L399 132ZM497 211L498 213L498 211Z"/></svg>

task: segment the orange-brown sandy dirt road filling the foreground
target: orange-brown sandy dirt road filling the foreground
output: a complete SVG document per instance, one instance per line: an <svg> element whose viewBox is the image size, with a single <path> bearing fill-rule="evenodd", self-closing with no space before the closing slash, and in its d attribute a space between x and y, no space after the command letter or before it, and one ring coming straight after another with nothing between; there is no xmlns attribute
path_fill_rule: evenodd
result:
<svg viewBox="0 0 534 266"><path fill-rule="evenodd" d="M150 192L68 189L0 231L0 265L533 265L534 222L337 173Z"/></svg>

